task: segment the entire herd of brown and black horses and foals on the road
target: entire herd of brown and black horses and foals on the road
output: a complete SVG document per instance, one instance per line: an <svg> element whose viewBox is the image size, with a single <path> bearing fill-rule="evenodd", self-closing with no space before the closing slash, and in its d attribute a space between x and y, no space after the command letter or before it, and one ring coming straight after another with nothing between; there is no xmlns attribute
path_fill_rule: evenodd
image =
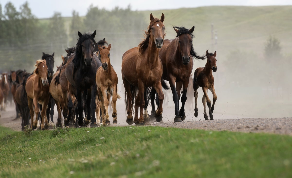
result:
<svg viewBox="0 0 292 178"><path fill-rule="evenodd" d="M193 31L185 27L173 27L177 36L166 40L164 14L160 19L150 14L150 24L145 31L145 40L138 47L126 51L122 56L121 74L125 88L126 122L145 125L154 120L160 122L163 114L164 94L169 81L175 105L174 122L185 120L185 103L194 59L207 58L205 67L197 68L192 81L195 97L195 117L198 116L198 88L203 89L204 118L213 119L217 100L212 71L217 70L216 51L199 56L193 47ZM54 106L57 106L57 127L97 127L109 125L108 106L112 97L112 124L117 124L118 77L110 62L111 44L105 38L95 41L96 31L81 34L75 47L67 48L62 64L53 72L54 53L46 54L36 61L32 73L11 71L2 73L0 80L1 110L5 110L9 94L15 102L16 117L22 118L22 130L26 125L32 129L45 130L53 124ZM107 45L105 45L107 44ZM182 89L182 92L181 92ZM213 94L213 105L208 97ZM179 99L181 96L181 107ZM151 102L151 114L147 107ZM206 112L206 103L209 113ZM157 109L155 109L155 104ZM138 117L139 109L140 115ZM134 117L133 117L134 113ZM64 125L62 125L62 116ZM85 116L85 117L84 117ZM96 116L96 117L95 117ZM0 116L1 117L1 116Z"/></svg>

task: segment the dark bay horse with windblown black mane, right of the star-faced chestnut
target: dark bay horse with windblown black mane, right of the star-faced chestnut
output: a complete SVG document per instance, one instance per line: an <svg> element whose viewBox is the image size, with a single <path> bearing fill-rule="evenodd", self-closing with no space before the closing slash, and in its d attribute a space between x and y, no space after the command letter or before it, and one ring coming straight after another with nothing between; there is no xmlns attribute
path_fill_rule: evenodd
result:
<svg viewBox="0 0 292 178"><path fill-rule="evenodd" d="M205 59L205 56L199 56L193 47L193 31L185 27L173 27L177 33L173 40L164 40L164 46L159 50L159 57L163 65L164 80L168 80L173 95L175 105L174 122L185 120L185 102L187 101L187 87L189 78L193 70L193 59ZM176 89L175 89L176 83ZM180 89L183 87L182 106L179 110ZM151 95L151 101L154 101ZM155 110L152 103L152 112Z"/></svg>

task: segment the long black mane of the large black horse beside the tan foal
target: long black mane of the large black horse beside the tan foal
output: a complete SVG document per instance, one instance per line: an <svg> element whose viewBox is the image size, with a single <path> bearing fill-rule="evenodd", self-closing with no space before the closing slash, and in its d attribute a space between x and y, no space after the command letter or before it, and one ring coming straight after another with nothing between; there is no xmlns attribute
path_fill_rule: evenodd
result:
<svg viewBox="0 0 292 178"><path fill-rule="evenodd" d="M75 47L75 53L74 53L75 55L74 55L74 58L72 59L72 62L74 63L74 68L80 65L80 60L82 57L81 43L87 39L91 39L93 43L96 44L95 39L89 33L83 34L81 38L78 39L76 47Z"/></svg>

